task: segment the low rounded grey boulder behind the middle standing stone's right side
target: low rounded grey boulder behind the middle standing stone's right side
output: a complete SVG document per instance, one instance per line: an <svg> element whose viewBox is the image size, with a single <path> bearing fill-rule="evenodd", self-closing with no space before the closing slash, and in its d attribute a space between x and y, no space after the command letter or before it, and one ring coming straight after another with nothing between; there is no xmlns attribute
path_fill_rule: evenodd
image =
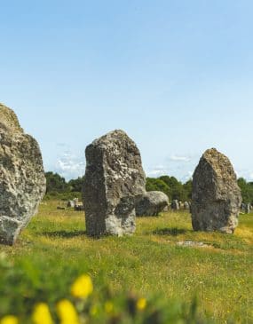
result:
<svg viewBox="0 0 253 324"><path fill-rule="evenodd" d="M137 216L157 216L169 205L167 194L161 191L147 192L136 205Z"/></svg>

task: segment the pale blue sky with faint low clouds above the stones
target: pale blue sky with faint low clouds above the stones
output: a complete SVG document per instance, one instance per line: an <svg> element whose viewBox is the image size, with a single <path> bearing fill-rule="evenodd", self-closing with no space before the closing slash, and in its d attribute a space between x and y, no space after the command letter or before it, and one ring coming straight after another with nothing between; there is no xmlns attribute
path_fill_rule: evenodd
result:
<svg viewBox="0 0 253 324"><path fill-rule="evenodd" d="M185 181L214 146L253 180L251 0L0 4L0 101L45 170L83 175L85 146L123 129L149 176Z"/></svg>

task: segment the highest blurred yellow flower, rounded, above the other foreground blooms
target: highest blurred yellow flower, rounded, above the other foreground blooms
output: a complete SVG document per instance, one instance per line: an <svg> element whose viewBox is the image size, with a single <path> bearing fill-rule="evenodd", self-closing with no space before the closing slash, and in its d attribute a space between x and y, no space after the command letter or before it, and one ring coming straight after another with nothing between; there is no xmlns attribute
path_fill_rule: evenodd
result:
<svg viewBox="0 0 253 324"><path fill-rule="evenodd" d="M71 295L77 298L87 298L93 292L93 284L88 274L77 278L71 287Z"/></svg>

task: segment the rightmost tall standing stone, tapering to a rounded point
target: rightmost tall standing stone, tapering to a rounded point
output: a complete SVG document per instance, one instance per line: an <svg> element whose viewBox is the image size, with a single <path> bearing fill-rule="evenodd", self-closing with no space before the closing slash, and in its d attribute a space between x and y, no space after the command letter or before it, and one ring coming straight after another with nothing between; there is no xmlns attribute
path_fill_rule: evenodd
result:
<svg viewBox="0 0 253 324"><path fill-rule="evenodd" d="M240 207L241 190L231 162L217 149L207 150L194 171L194 230L233 233Z"/></svg>

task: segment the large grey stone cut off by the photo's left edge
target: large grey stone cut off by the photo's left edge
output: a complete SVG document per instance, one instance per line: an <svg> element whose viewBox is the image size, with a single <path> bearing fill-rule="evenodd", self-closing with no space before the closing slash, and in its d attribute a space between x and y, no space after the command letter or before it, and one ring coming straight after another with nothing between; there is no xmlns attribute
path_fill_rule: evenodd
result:
<svg viewBox="0 0 253 324"><path fill-rule="evenodd" d="M34 138L0 104L0 243L12 245L45 193L43 161Z"/></svg>

